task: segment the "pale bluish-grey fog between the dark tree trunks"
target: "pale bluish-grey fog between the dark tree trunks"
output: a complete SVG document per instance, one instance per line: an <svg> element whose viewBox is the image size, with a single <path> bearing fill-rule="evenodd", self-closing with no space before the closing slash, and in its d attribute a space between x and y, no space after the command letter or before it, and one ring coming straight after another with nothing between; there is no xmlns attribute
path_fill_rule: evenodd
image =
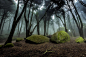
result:
<svg viewBox="0 0 86 57"><path fill-rule="evenodd" d="M20 15L20 13L23 9L23 6L24 6L24 3L22 1L23 0L19 1L18 16ZM83 2L86 3L85 0L83 0ZM28 5L29 5L29 3L30 2L28 2ZM31 9L29 8L29 6L27 6L26 17L28 18L29 9L30 9L30 12L31 12L29 19L31 18L31 14L33 12L33 17L32 17L32 22L31 22L31 24L32 24L31 31L33 31L34 26L37 24L36 16L37 16L37 19L41 19L41 17L45 14L49 3L50 3L50 0L34 0L32 5L31 5ZM3 36L7 35L6 37L9 36L11 28L12 28L15 12L16 12L16 9L17 9L17 4L18 4L17 0L4 0L4 1L0 0L0 22L1 22L2 15L4 14L3 12L5 12L4 21L3 21L3 24L2 24L3 26L0 30L0 35L3 35ZM86 17L85 17L86 7L81 5L77 0L75 0L75 6L77 7L77 9L78 9L77 11L79 12L81 20L84 24L83 33L84 33L84 37L86 37L85 36L85 34L86 34L85 33L86 32ZM46 31L48 31L46 33L47 35L52 35L59 30L65 30L64 25L63 25L63 23L65 23L64 19L63 19L64 17L62 16L63 13L61 13L60 10L58 10L57 13L56 13L62 19L62 21L63 21L63 23L62 23L62 21L58 17L56 17L56 14L55 14L56 8L57 8L57 5L53 4L51 9L49 9L47 11L46 16L40 21L40 23L39 23L40 35L44 35L44 19L46 19L46 22L47 22L47 24L46 24ZM68 29L68 33L71 36L73 36L74 34L75 34L75 36L79 36L78 28L76 26L75 21L73 20L73 16L69 12L68 6L64 5L62 8L66 12L66 14L65 14L65 19L66 20L65 21L66 21L66 24L67 24L66 26L67 26L67 29ZM72 11L75 15L75 10L72 7L72 5L71 5L71 8L72 8ZM69 17L68 17L68 14L69 14ZM75 17L77 18L77 16L75 16ZM49 26L48 26L48 21L47 20L49 20ZM68 20L70 21L71 25L69 24ZM25 26L25 19L24 19L24 13L23 13L20 21L17 24L14 36L18 36L18 34L20 33L21 35L24 35L24 37L25 37L26 36L25 35L26 34L26 29L25 28L26 28L26 26ZM35 28L33 34L37 34L37 27Z"/></svg>

